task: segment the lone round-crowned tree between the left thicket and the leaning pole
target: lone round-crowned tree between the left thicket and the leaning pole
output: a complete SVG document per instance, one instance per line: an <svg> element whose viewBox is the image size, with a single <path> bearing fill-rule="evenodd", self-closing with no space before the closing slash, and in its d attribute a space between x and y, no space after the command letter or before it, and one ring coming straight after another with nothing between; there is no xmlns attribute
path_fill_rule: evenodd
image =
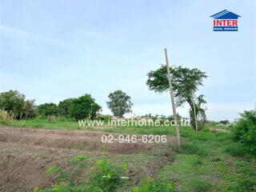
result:
<svg viewBox="0 0 256 192"><path fill-rule="evenodd" d="M122 90L115 90L114 93L110 93L109 102L106 102L114 116L122 118L124 114L132 112L131 107L134 105L130 102L130 96L128 96Z"/></svg>

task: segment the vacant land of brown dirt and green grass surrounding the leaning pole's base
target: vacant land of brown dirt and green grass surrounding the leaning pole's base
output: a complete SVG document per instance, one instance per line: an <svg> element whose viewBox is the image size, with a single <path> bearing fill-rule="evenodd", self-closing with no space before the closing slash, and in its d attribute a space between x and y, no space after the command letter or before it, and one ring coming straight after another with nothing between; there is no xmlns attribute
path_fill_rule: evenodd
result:
<svg viewBox="0 0 256 192"><path fill-rule="evenodd" d="M20 122L15 123L18 126ZM28 124L33 127L33 123L47 126L42 122ZM227 153L230 146L238 146L230 140L229 133L211 133L207 129L194 132L191 127L181 127L183 146L178 150L172 127L78 130L76 126L64 126L63 130L61 126L65 123L73 122L49 122L50 129L0 127L0 191L50 187L59 181L56 174L46 174L47 168L62 166L69 171L69 162L82 154L89 157L90 166L102 157L117 165L127 162L129 171L124 176L129 177L129 182L120 191L131 191L145 177L174 182L179 191L255 190L255 160ZM114 137L118 134L138 134L138 137L140 134L166 134L168 142L102 143L102 134L110 132ZM84 175L88 171L85 169Z"/></svg>

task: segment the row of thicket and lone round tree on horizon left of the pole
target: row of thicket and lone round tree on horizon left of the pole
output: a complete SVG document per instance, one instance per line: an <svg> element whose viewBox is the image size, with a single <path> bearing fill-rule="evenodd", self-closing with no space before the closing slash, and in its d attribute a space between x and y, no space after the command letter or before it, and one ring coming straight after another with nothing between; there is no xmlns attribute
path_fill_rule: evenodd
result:
<svg viewBox="0 0 256 192"><path fill-rule="evenodd" d="M114 116L122 118L124 114L130 113L133 103L122 90L115 90L109 94L106 102ZM9 90L0 93L0 109L5 110L11 117L16 119L35 118L38 115L45 117L61 116L65 118L95 119L102 111L100 106L90 94L84 94L78 98L66 98L59 102L46 102L39 106L34 104L34 99L26 99L25 94L18 90Z"/></svg>

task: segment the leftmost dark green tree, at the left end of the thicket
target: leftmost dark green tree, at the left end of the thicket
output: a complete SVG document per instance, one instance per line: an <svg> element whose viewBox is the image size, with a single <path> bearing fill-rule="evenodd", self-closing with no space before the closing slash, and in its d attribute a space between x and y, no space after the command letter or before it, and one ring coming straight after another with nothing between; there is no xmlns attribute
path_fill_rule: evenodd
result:
<svg viewBox="0 0 256 192"><path fill-rule="evenodd" d="M22 110L25 103L25 95L18 90L9 90L0 93L0 109L6 110L8 114L14 114L14 118L22 117Z"/></svg>

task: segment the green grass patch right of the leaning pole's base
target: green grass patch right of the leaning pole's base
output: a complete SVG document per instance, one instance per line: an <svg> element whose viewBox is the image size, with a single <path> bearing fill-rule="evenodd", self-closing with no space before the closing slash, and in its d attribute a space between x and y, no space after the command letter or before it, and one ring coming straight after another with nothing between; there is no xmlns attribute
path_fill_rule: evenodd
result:
<svg viewBox="0 0 256 192"><path fill-rule="evenodd" d="M242 154L230 134L188 129L181 134L182 149L159 177L176 181L180 191L256 191L256 161Z"/></svg>

